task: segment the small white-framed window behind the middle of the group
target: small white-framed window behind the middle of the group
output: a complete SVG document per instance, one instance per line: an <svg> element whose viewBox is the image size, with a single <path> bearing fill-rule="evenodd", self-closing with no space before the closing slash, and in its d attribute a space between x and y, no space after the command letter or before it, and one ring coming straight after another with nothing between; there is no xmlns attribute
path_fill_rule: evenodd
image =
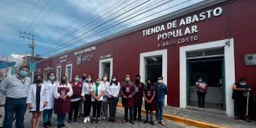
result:
<svg viewBox="0 0 256 128"><path fill-rule="evenodd" d="M98 63L98 77L102 78L102 75L109 75L109 78L113 75L113 57L99 60Z"/></svg>

